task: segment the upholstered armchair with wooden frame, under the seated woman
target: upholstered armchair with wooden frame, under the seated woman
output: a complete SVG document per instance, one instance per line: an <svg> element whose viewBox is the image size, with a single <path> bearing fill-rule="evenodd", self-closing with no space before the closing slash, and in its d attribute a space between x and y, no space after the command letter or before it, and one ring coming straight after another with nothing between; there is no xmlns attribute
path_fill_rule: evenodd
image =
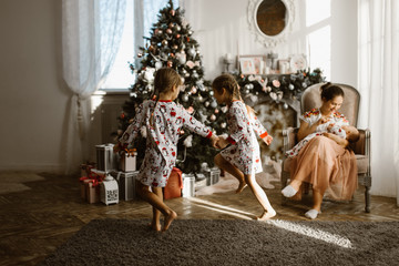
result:
<svg viewBox="0 0 399 266"><path fill-rule="evenodd" d="M320 99L320 86L324 83L318 83L309 86L305 90L300 99L300 112L307 112L314 108L321 106ZM359 92L346 84L336 84L339 85L345 93L345 99L339 112L342 113L348 120L350 125L357 126L358 112L359 112L359 102L360 94ZM288 127L283 130L284 139L284 153L294 147L297 143L296 134L298 127ZM358 181L359 184L365 186L365 211L366 213L370 212L370 186L371 186L371 171L370 171L370 131L360 130L360 139L356 143L350 144L350 149L355 152L357 166L358 166ZM289 170L290 170L290 158L284 157L283 167L282 167L282 187L285 187L288 184L289 180ZM287 198L283 196L283 204L286 204Z"/></svg>

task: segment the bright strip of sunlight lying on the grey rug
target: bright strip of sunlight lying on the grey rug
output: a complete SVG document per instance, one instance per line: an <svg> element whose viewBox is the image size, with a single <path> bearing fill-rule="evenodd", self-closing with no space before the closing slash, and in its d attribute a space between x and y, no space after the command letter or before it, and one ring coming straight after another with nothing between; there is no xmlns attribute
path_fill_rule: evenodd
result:
<svg viewBox="0 0 399 266"><path fill-rule="evenodd" d="M267 221L266 223L277 226L279 228L286 229L286 231L290 231L294 233L298 233L305 236L309 236L309 237L314 237L316 239L319 241L324 241L330 244L335 244L345 248L352 248L351 242L342 236L339 235L335 235L321 229L314 229L309 226L305 226L305 225L298 225L291 222L287 222L287 221L282 221L282 219L270 219Z"/></svg>

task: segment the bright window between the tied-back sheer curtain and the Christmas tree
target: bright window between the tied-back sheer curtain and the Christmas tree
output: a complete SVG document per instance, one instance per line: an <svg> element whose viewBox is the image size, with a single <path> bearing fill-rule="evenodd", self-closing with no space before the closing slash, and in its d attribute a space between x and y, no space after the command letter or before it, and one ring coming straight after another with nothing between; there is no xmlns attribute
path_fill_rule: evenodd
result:
<svg viewBox="0 0 399 266"><path fill-rule="evenodd" d="M166 7L167 2L167 0L126 0L120 49L106 81L101 86L102 90L126 91L134 83L135 76L129 63L136 59L137 48L144 45L143 37L150 37L152 24L158 19L158 11ZM175 9L178 7L178 0L173 0L173 7ZM141 32L137 33L137 30Z"/></svg>

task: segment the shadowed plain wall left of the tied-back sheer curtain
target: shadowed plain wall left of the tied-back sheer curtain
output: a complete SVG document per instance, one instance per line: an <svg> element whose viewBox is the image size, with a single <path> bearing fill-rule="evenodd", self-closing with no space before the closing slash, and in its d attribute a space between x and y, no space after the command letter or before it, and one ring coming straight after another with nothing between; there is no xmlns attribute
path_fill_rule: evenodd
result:
<svg viewBox="0 0 399 266"><path fill-rule="evenodd" d="M62 168L60 18L61 0L0 1L0 170Z"/></svg>

